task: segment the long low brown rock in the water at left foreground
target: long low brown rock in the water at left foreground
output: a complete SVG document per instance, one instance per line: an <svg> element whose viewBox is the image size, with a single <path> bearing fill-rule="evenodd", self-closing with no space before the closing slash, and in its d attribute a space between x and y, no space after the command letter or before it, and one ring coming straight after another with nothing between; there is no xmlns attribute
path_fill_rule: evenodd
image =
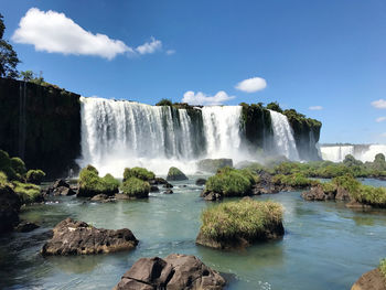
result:
<svg viewBox="0 0 386 290"><path fill-rule="evenodd" d="M42 248L42 255L84 255L132 249L138 245L128 228L96 228L84 222L66 218L53 229L53 237Z"/></svg>

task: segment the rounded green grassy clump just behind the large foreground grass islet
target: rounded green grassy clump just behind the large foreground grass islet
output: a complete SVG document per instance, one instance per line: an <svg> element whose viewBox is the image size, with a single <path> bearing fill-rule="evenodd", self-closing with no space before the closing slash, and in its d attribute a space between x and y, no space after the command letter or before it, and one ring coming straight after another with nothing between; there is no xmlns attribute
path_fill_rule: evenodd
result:
<svg viewBox="0 0 386 290"><path fill-rule="evenodd" d="M216 175L208 178L205 192L215 192L225 196L244 196L250 194L254 184L250 171L223 168Z"/></svg>

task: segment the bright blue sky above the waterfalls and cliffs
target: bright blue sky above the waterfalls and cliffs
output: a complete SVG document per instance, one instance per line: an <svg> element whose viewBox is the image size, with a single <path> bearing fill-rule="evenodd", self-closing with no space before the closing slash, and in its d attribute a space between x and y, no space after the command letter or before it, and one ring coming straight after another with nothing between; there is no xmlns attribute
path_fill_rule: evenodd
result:
<svg viewBox="0 0 386 290"><path fill-rule="evenodd" d="M321 120L321 142L386 142L384 0L0 0L0 7L19 69L42 71L83 96L156 104L202 92L226 105L277 100ZM18 39L31 8L43 20L31 13ZM56 23L45 18L49 10L92 40L66 41L71 29L57 26L47 34ZM28 26L34 20L37 31ZM97 33L107 35L106 45L98 46ZM254 77L266 87L236 88Z"/></svg>

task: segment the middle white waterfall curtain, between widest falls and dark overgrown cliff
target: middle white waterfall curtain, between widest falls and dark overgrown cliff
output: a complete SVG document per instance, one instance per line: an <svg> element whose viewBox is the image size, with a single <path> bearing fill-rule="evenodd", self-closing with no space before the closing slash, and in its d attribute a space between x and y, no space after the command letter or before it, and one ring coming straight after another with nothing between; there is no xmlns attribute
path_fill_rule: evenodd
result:
<svg viewBox="0 0 386 290"><path fill-rule="evenodd" d="M224 158L239 154L240 115L242 106L203 107L202 116L208 157Z"/></svg>

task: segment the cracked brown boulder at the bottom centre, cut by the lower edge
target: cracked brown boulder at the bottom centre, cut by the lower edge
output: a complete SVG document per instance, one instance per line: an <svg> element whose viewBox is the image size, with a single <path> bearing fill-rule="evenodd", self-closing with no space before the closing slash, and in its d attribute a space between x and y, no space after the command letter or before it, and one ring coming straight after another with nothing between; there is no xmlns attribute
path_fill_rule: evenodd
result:
<svg viewBox="0 0 386 290"><path fill-rule="evenodd" d="M194 256L141 258L122 276L114 290L219 290L225 279Z"/></svg>

